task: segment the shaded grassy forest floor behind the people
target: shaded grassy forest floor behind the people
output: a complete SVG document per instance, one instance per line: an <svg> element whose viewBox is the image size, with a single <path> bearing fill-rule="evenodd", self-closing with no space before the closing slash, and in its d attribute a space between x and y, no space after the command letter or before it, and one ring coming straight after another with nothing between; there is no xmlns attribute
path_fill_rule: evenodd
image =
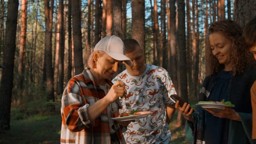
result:
<svg viewBox="0 0 256 144"><path fill-rule="evenodd" d="M169 127L172 144L189 144L184 126L176 127L177 112ZM33 115L21 120L11 120L11 130L0 133L0 144L59 144L61 134L60 113Z"/></svg>

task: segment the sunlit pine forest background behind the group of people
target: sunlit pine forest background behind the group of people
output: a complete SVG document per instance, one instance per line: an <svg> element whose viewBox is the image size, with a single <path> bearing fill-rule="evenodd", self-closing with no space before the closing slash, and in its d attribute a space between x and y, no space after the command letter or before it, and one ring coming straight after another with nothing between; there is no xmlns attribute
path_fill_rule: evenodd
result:
<svg viewBox="0 0 256 144"><path fill-rule="evenodd" d="M0 132L11 118L59 113L67 81L111 34L136 39L146 63L168 70L185 101L197 100L209 23L243 27L255 14L256 0L0 0Z"/></svg>

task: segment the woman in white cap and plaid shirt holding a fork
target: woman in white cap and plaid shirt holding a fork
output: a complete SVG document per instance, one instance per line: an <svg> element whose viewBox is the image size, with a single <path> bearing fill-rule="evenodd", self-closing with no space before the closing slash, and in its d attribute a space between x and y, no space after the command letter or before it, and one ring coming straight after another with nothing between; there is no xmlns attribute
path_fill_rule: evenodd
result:
<svg viewBox="0 0 256 144"><path fill-rule="evenodd" d="M126 94L125 84L109 80L123 62L133 65L119 37L104 37L96 44L89 67L72 77L63 91L61 144L126 143L121 128L129 122L111 119L119 114L118 98Z"/></svg>

